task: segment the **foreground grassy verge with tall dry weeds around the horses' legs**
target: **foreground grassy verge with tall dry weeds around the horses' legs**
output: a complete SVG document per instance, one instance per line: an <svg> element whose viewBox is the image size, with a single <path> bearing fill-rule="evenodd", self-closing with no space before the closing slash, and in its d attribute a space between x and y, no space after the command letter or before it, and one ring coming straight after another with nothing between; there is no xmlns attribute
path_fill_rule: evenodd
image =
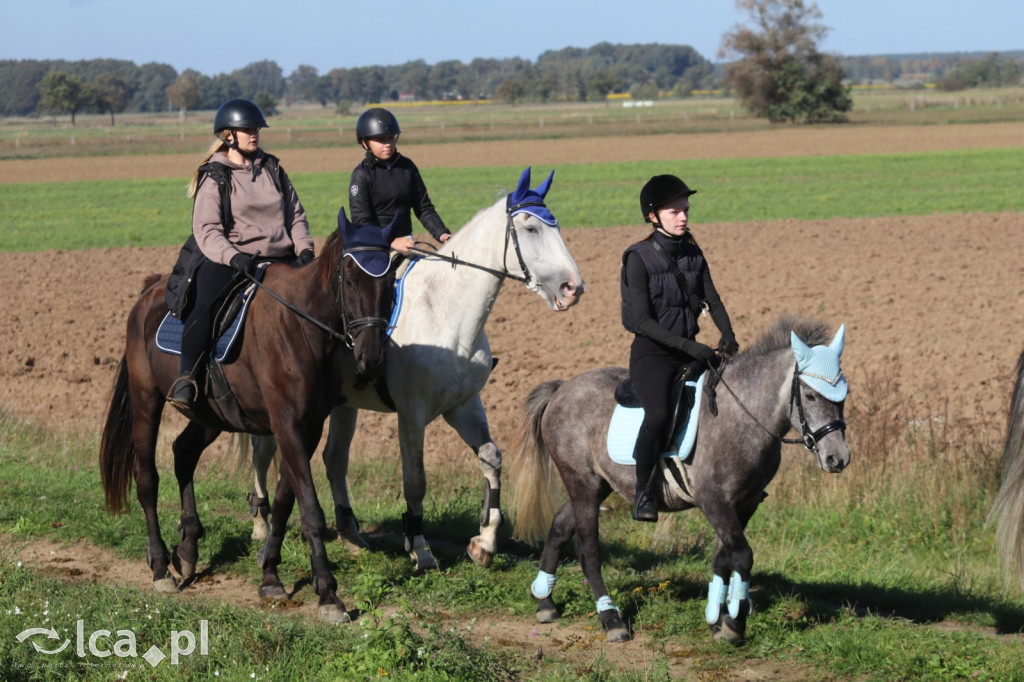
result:
<svg viewBox="0 0 1024 682"><path fill-rule="evenodd" d="M147 647L205 619L209 655L194 655L172 672L200 677L220 671L227 679L640 680L666 677L672 662L684 658L701 679L753 665L799 670L809 678L1022 680L1020 635L992 634L1024 632L1024 600L999 584L984 524L996 486L992 462L1000 433L979 418L950 419L923 398L902 396L887 383L898 374L896 367L868 377L851 397L847 418L857 459L842 475L824 474L802 450L786 449L770 496L749 526L756 553L755 614L750 641L740 649L708 636L703 605L716 540L699 513L640 527L630 520L625 501L606 503L604 578L634 632L644 637L646 657L625 666L615 663L616 649L600 641L593 595L571 552L558 571L554 596L563 620L556 626L534 621L526 586L536 576L537 554L510 539L509 524L500 531L502 553L490 569L466 557L479 505L472 462L430 473L425 532L443 570L415 576L401 547L400 476L393 466L358 457L350 482L373 550L349 555L329 546L339 596L359 611L354 624L325 628L205 599L91 583L69 587L17 566L0 551L0 608L20 611L0 610L0 638L16 641L30 621L35 626L45 617L49 623L40 627L67 632L81 617L87 630L131 629ZM102 510L94 453L94 442L0 421L0 529L19 540L84 539L136 563L146 577L141 512L137 504L120 517ZM159 464L165 474L162 529L172 542L177 491L170 463ZM326 492L322 470L315 478ZM248 480L220 464L201 463L197 499L207 537L200 568L248 580L255 593L257 547L248 540L243 502ZM326 498L323 503L331 505ZM329 508L325 513L333 516ZM298 599L312 601L308 551L295 525L293 517L281 574L286 586L298 589ZM480 620L518 624L530 646L524 651L474 637ZM577 632L584 626L590 634L571 635L566 625ZM540 659L535 642L544 652ZM583 662L565 657L581 647L592 648ZM39 663L40 654L17 644L3 659L0 677L49 676L15 667ZM75 670L100 677L92 669ZM146 674L164 679L168 671L164 665Z"/></svg>

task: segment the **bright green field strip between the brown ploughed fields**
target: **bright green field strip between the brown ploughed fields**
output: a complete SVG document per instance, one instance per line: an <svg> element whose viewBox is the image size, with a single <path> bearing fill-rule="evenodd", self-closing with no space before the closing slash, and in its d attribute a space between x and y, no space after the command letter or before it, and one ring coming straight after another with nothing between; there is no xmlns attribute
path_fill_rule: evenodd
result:
<svg viewBox="0 0 1024 682"><path fill-rule="evenodd" d="M565 164L556 169L548 203L564 227L637 223L640 185L672 171L700 191L693 199L698 223L1020 212L1022 163L1019 150L971 150ZM521 170L424 169L423 175L438 212L457 228L513 187ZM548 170L537 168L535 182ZM314 236L326 237L343 202L347 208L342 178L297 173L294 181ZM180 245L191 220L184 185L183 178L0 185L0 251Z"/></svg>

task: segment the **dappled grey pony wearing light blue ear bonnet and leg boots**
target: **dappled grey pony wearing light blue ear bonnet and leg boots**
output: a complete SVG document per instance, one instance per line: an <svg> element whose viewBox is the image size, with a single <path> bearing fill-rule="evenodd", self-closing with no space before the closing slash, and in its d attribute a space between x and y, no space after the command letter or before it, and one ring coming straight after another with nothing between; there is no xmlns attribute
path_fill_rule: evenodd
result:
<svg viewBox="0 0 1024 682"><path fill-rule="evenodd" d="M697 507L718 536L705 612L716 639L744 641L754 565L744 529L778 471L782 443L804 444L827 472L838 473L850 462L843 420L847 383L840 369L845 331L841 327L830 344L827 335L821 323L783 316L720 368L714 401L697 392L699 420L695 433L687 429L693 449L684 443L675 457L664 459L659 510ZM536 542L547 531L541 569L530 586L538 620L548 623L560 615L552 600L555 569L559 553L575 534L608 641L630 639L601 578L598 552L601 502L612 492L632 501L636 483L634 464L612 459L616 450L632 453L632 445L611 442L620 438L609 426L613 413L625 410L616 407L614 393L627 376L625 369L605 368L535 388L513 462L518 470L513 474L515 536ZM792 427L800 430L799 440L783 438ZM639 429L639 420L634 428ZM552 462L569 497L557 510Z"/></svg>

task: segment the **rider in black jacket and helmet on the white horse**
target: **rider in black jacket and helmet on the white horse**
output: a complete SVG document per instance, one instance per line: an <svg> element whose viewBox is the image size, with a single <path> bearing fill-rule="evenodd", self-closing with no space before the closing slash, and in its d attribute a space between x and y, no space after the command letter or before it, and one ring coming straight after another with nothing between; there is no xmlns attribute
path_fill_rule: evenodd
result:
<svg viewBox="0 0 1024 682"><path fill-rule="evenodd" d="M434 239L444 243L452 237L437 215L413 160L398 153L398 120L386 109L370 109L355 123L355 139L367 157L352 170L348 187L348 209L357 225L384 226L395 213L398 218L391 248L409 253L413 246L410 209Z"/></svg>

